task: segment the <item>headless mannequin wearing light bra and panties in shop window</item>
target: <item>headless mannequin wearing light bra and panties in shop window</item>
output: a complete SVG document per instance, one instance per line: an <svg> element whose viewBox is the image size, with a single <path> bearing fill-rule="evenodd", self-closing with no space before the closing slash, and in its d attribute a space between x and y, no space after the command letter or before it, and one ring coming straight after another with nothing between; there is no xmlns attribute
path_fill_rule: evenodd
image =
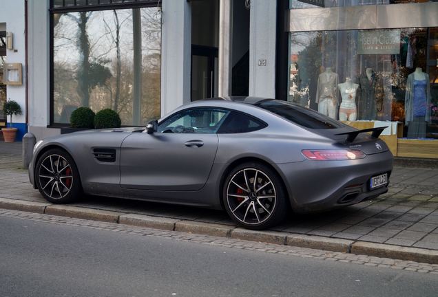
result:
<svg viewBox="0 0 438 297"><path fill-rule="evenodd" d="M359 85L350 78L345 78L345 83L337 85L340 90L342 102L339 109L339 120L356 120L356 91Z"/></svg>

